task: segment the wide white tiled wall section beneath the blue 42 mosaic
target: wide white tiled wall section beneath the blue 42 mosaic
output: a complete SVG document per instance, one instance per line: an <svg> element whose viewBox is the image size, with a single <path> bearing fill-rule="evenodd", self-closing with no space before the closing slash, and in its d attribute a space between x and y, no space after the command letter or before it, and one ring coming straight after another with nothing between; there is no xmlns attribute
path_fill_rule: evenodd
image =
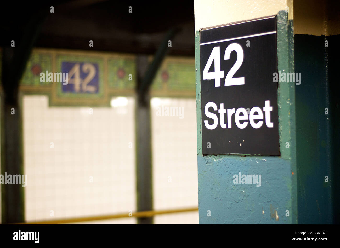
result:
<svg viewBox="0 0 340 248"><path fill-rule="evenodd" d="M47 96L24 96L26 221L135 210L135 103L124 99L89 114L90 107L49 107Z"/></svg>

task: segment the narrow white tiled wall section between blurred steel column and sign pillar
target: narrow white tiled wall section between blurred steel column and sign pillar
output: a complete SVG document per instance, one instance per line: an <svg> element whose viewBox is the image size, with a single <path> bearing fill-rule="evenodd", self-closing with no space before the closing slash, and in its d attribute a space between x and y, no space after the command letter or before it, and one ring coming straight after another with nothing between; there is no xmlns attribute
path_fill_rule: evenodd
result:
<svg viewBox="0 0 340 248"><path fill-rule="evenodd" d="M182 116L166 116L166 107L181 107ZM152 98L151 119L154 209L198 206L195 99ZM158 215L154 223L198 224L198 211Z"/></svg>

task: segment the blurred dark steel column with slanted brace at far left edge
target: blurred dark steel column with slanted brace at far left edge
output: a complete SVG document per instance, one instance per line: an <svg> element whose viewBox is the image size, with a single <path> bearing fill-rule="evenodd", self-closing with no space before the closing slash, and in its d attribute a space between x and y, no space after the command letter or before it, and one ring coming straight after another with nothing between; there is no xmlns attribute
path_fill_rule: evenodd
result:
<svg viewBox="0 0 340 248"><path fill-rule="evenodd" d="M19 84L34 41L46 17L45 12L32 13L20 40L13 37L15 47L10 47L11 40L8 40L8 47L3 48L1 78L3 89L1 95L1 174L3 175L5 173L7 175L24 174ZM1 191L2 223L24 222L24 188L22 185L3 184Z"/></svg>

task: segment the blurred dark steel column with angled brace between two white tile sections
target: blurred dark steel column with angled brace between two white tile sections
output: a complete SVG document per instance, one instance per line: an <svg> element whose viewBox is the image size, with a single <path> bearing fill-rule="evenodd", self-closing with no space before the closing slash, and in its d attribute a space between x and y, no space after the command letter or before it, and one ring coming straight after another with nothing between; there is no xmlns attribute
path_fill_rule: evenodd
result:
<svg viewBox="0 0 340 248"><path fill-rule="evenodd" d="M137 211L153 209L151 114L149 89L167 51L168 40L177 33L170 30L148 66L147 56L137 57L137 104L136 104L136 177ZM152 224L152 217L138 218L138 224Z"/></svg>

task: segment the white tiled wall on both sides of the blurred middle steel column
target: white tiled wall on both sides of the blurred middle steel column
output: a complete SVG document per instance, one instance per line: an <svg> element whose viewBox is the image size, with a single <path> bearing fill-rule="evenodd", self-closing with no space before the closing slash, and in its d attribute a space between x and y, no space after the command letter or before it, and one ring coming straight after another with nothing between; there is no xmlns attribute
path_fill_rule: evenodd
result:
<svg viewBox="0 0 340 248"><path fill-rule="evenodd" d="M93 108L91 115L89 108L48 107L46 96L24 96L27 221L135 210L134 99L127 99L126 106ZM195 100L151 102L154 209L197 206ZM181 107L183 118L157 115L162 105ZM198 212L157 215L154 223L198 224ZM136 218L79 224L136 224Z"/></svg>

